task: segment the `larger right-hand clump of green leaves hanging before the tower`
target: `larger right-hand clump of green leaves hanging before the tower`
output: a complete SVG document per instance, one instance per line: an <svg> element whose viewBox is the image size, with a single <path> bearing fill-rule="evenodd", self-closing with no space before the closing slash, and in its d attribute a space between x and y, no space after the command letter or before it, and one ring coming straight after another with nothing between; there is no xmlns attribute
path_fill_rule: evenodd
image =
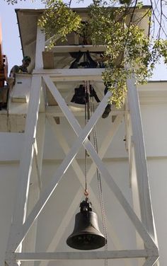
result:
<svg viewBox="0 0 167 266"><path fill-rule="evenodd" d="M132 21L133 11L125 6L90 6L93 42L106 45L103 80L112 91L111 101L120 107L126 95L126 80L134 73L138 83L151 75L149 37ZM96 23L93 23L96 21ZM100 21L100 23L99 23Z"/></svg>

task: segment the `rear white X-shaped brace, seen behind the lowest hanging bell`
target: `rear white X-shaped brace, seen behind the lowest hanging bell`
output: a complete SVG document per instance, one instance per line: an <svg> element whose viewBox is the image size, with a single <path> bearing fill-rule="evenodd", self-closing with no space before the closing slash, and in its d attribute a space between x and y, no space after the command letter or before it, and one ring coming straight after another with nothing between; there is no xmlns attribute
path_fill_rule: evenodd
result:
<svg viewBox="0 0 167 266"><path fill-rule="evenodd" d="M107 138L104 139L103 144L100 148L100 155L101 156L103 154L105 154L105 151L108 149L108 146L110 146L110 143L113 140L114 133L117 131L117 129L120 125L121 119L122 119L122 116L115 119L115 122L113 123L115 126L113 127L113 125L112 125L112 127L110 128L110 130L107 134ZM64 154L67 155L67 153L69 152L69 145L67 144L66 139L63 137L62 131L59 129L60 125L56 125L53 117L48 117L48 120L50 122L50 125L52 125L52 129L53 129L53 131L57 137L57 140L59 141L59 144L62 146L62 149L64 150ZM67 211L67 214L64 216L64 219L62 220L62 224L59 226L59 229L57 229L57 233L54 235L54 238L52 239L52 243L50 243L49 247L47 248L47 252L56 250L57 245L58 245L60 239L62 238L64 230L66 229L67 225L69 224L69 221L74 216L74 212L75 212L76 208L79 207L78 202L81 201L81 195L84 192L84 184L83 184L84 173L81 170L76 159L74 159L71 162L71 166L74 168L74 172L76 173L76 176L79 178L79 181L80 181L82 187L76 193L73 201L69 204L69 209ZM92 163L92 166L94 166L93 163ZM91 174L88 175L89 176L89 178L88 178L89 190L88 191L89 191L89 194L91 195L91 200L93 200L93 202L94 202L93 207L96 209L96 213L98 214L100 219L102 219L100 206L98 204L98 199L90 187L91 179L93 178L93 175L96 173L96 166L93 168L91 167L91 169L88 171L88 173L89 172L91 172ZM122 245L120 243L121 241L118 239L117 234L115 233L115 230L113 229L113 225L108 220L108 215L107 214L105 214L105 215L106 215L105 219L106 219L106 223L107 223L107 228L109 229L108 235L110 235L110 237L111 237L115 247L117 248L117 250L121 250L122 249ZM47 265L46 262L40 263L40 266L45 266L45 265ZM129 260L125 260L125 265L130 266L131 262Z"/></svg>

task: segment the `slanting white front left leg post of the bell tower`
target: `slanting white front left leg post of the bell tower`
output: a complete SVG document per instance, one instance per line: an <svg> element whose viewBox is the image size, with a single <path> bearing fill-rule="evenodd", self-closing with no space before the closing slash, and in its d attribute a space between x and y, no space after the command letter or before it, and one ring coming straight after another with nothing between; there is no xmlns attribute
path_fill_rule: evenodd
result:
<svg viewBox="0 0 167 266"><path fill-rule="evenodd" d="M13 247L16 246L16 238L20 233L21 226L26 216L30 173L33 163L33 143L40 105L40 84L40 76L33 76L30 103L25 125L25 143L18 172L18 193L16 194L16 204L13 210L13 221L8 238L7 253L15 250Z"/></svg>

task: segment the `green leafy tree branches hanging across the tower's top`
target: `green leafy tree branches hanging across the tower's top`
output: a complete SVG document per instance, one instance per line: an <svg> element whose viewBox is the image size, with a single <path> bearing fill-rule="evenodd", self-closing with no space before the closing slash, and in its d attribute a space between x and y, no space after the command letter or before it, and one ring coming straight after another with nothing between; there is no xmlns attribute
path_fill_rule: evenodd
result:
<svg viewBox="0 0 167 266"><path fill-rule="evenodd" d="M42 0L47 9L38 23L50 38L48 48L52 48L58 39L66 40L71 32L83 37L84 45L88 39L93 45L105 45L103 81L112 91L110 101L119 108L125 99L126 80L132 74L137 83L144 83L160 57L167 63L167 40L163 27L163 19L167 20L163 11L166 0L159 1L157 14L158 2L154 4L152 0L147 8L139 0L93 0L93 4L88 6L88 21L83 23L81 17L69 8L71 1L64 4L62 0ZM152 21L150 35L140 27L145 18Z"/></svg>

